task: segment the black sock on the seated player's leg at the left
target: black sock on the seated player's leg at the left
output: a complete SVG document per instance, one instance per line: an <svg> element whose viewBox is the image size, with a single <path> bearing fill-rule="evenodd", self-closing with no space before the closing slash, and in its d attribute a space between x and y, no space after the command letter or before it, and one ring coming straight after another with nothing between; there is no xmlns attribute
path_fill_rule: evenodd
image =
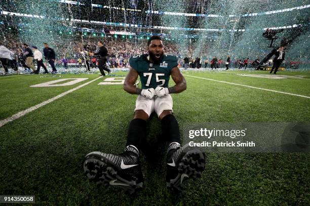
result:
<svg viewBox="0 0 310 206"><path fill-rule="evenodd" d="M140 150L143 138L146 138L146 121L142 119L133 119L129 124L126 146L134 145Z"/></svg>

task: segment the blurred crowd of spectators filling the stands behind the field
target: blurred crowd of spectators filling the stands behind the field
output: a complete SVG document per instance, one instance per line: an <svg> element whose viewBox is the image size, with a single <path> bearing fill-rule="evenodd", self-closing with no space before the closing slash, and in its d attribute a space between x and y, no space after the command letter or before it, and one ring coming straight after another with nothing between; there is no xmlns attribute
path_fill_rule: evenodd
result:
<svg viewBox="0 0 310 206"><path fill-rule="evenodd" d="M95 52L97 41L99 38L77 38L71 41L66 41L66 43L58 43L50 42L50 45L53 46L56 52L56 66L63 65L65 68L67 66L81 67L81 62L84 64L83 58L79 53L79 48L85 47L88 45L88 52ZM102 38L101 38L102 39ZM129 67L129 58L132 55L143 54L147 52L146 43L147 39L139 39L139 38L115 38L113 36L104 38L104 45L108 50L108 59L107 64L110 68L123 68ZM22 48L22 43L17 37L5 38L4 40L0 40L0 45L3 45L9 48L13 53L17 54L17 49ZM31 42L27 42L30 45ZM39 49L43 48L43 45L35 45ZM183 48L180 48L183 46ZM188 67L189 68L223 68L227 63L226 57L216 58L214 57L207 58L206 53L202 54L199 51L207 51L207 45L203 45L201 48L197 48L193 44L186 44L186 57L188 58ZM181 50L182 49L182 50ZM174 41L165 41L164 50L166 54L174 54L179 58L179 66L184 66L184 57L180 54L184 54L184 45L179 45ZM14 57L18 60L17 57ZM82 61L81 61L82 60ZM230 58L229 58L230 60ZM259 63L259 58L255 60L249 60L246 58L231 58L229 61L230 67L234 68L245 68L247 67L255 67ZM96 67L96 59L91 58L90 61L91 67Z"/></svg>

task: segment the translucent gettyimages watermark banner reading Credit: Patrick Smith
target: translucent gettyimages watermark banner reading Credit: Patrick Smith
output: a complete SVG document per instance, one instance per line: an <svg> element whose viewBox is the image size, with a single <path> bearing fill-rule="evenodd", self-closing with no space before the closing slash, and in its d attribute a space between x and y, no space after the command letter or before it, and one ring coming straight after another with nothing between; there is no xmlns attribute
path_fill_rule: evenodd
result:
<svg viewBox="0 0 310 206"><path fill-rule="evenodd" d="M205 152L309 152L310 123L200 123L182 128L183 143Z"/></svg>

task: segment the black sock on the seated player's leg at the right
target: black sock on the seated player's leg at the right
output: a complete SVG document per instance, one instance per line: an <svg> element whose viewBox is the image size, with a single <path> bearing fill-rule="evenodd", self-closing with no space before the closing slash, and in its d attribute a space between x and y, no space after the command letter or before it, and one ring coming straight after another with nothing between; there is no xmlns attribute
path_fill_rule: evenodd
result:
<svg viewBox="0 0 310 206"><path fill-rule="evenodd" d="M171 142L180 143L179 124L173 115L167 115L162 119L162 132L168 144Z"/></svg>

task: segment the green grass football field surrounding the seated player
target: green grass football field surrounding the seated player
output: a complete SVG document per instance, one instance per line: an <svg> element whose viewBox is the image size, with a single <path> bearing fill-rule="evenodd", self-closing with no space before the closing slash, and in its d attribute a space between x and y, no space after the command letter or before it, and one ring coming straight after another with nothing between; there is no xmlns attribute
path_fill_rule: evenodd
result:
<svg viewBox="0 0 310 206"><path fill-rule="evenodd" d="M117 76L112 77L126 75L114 74ZM278 72L289 76L283 79L240 75L268 74L265 71L183 74L187 90L172 94L180 126L310 121L310 98L218 82L310 96L310 72ZM0 120L98 77L0 77ZM71 86L30 87L62 78L89 79ZM147 141L148 145L160 146L150 146L156 159L148 161L141 156L143 190L129 196L121 189L90 183L83 175L84 156L98 150L123 152L137 97L125 92L120 84L98 85L105 78L0 127L1 195L35 195L40 205L309 205L309 153L206 153L202 178L188 181L180 195L171 194L165 187L166 147L156 142L161 133L156 116L148 122Z"/></svg>

